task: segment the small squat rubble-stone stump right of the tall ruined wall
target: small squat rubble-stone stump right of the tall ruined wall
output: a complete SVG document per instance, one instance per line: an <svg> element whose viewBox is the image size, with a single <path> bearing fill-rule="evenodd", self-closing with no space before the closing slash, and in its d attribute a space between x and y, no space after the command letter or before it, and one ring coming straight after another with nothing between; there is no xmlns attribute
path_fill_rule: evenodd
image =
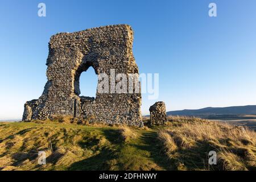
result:
<svg viewBox="0 0 256 182"><path fill-rule="evenodd" d="M164 102L155 102L154 105L150 106L150 123L156 125L162 125L167 122L166 105Z"/></svg>

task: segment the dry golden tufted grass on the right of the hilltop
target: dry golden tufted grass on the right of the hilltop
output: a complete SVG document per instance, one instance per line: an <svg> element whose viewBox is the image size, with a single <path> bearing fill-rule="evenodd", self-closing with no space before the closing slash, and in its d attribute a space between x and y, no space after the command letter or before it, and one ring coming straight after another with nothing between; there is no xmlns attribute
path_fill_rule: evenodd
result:
<svg viewBox="0 0 256 182"><path fill-rule="evenodd" d="M218 167L222 170L255 169L256 133L246 127L230 126L225 123L212 122L199 118L171 117L167 127L159 130L158 138L163 143L169 159L177 159L177 165L201 158L205 169L210 169L206 158L210 150L217 152ZM204 155L196 155L201 152ZM193 159L193 155L197 159ZM178 156L178 157L177 157ZM201 165L200 163L196 165ZM207 167L208 166L208 167ZM212 167L212 166L211 166Z"/></svg>

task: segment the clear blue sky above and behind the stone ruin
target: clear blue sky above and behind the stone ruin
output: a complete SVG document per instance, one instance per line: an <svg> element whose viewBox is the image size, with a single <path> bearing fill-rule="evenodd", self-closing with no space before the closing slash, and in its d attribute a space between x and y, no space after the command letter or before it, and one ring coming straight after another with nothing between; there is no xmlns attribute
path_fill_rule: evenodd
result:
<svg viewBox="0 0 256 182"><path fill-rule="evenodd" d="M51 35L122 23L135 32L139 71L159 73L159 98L143 94L143 114L155 101L167 110L256 105L255 9L255 0L1 1L0 119L21 118L24 102L42 94ZM94 95L96 80L82 73L82 95Z"/></svg>

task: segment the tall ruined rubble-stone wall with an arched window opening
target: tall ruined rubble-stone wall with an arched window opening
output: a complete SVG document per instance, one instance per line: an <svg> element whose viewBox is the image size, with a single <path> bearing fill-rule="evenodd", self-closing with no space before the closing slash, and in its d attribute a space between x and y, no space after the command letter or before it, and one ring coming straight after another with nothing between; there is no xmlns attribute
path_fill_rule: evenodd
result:
<svg viewBox="0 0 256 182"><path fill-rule="evenodd" d="M42 96L24 105L22 120L63 114L110 124L139 125L142 121L140 92L97 92L96 98L79 96L80 75L89 67L93 67L97 75L110 75L110 69L127 76L138 73L132 44L133 30L126 24L53 35L46 63L48 81ZM109 86L110 83L109 80Z"/></svg>

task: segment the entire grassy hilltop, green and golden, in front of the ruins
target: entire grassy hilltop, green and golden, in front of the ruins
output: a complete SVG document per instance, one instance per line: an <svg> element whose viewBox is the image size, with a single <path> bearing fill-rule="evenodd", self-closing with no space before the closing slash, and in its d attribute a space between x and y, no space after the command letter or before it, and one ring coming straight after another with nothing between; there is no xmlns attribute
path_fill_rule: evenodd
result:
<svg viewBox="0 0 256 182"><path fill-rule="evenodd" d="M256 134L243 127L180 117L143 129L69 122L0 123L0 169L256 169ZM218 156L214 166L208 164L211 150ZM38 164L38 151L46 151L46 165Z"/></svg>

